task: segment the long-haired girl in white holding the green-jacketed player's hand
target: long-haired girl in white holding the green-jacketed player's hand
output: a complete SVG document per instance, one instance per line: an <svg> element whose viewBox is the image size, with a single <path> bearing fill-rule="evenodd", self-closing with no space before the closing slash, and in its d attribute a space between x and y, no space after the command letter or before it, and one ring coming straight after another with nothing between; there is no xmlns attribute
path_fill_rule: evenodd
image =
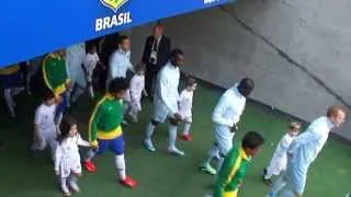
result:
<svg viewBox="0 0 351 197"><path fill-rule="evenodd" d="M58 146L55 152L55 173L60 178L64 195L70 196L69 188L75 193L80 192L77 183L78 177L81 176L78 146L90 147L90 144L81 139L77 121L71 117L65 117L60 124L60 131L61 135L57 139Z"/></svg>

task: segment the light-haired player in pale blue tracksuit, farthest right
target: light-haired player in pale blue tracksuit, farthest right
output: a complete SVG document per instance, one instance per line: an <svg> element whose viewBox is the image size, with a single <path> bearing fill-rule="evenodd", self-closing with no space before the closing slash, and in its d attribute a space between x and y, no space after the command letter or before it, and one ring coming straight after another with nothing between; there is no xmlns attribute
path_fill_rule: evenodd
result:
<svg viewBox="0 0 351 197"><path fill-rule="evenodd" d="M344 119L346 111L340 106L331 106L327 116L315 119L305 132L295 138L287 150L286 172L273 183L268 197L303 196L309 165L327 142L330 130L340 127Z"/></svg>

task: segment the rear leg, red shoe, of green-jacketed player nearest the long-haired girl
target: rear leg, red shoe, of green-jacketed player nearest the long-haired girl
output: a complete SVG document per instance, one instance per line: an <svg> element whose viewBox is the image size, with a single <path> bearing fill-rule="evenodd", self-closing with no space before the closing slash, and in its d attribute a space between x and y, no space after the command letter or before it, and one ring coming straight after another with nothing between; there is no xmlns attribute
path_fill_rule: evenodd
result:
<svg viewBox="0 0 351 197"><path fill-rule="evenodd" d="M98 139L98 149L89 149L84 159L84 169L90 172L90 173L95 173L97 172L97 166L95 164L92 162L92 159L97 155L97 154L102 154L104 153L107 148L110 147L111 141L110 140L100 140Z"/></svg>

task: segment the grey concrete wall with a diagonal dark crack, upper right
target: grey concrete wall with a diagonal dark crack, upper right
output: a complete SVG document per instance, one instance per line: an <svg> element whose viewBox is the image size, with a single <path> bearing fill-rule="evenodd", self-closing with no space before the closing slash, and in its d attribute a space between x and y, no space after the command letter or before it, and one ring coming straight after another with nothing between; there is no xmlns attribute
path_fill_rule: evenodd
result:
<svg viewBox="0 0 351 197"><path fill-rule="evenodd" d="M253 100L309 121L351 103L350 9L348 0L241 0L168 19L166 34L184 49L186 72L225 88L251 77ZM150 28L132 31L134 62Z"/></svg>

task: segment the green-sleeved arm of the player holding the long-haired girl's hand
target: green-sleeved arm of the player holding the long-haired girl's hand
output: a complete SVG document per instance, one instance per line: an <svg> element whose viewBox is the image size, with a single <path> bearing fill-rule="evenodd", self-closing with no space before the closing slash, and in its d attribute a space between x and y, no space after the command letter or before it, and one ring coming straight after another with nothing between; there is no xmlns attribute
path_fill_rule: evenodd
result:
<svg viewBox="0 0 351 197"><path fill-rule="evenodd" d="M98 139L97 139L97 134L98 134L98 123L102 116L102 101L100 101L95 108L92 112L92 115L89 120L89 142L91 147L98 147Z"/></svg>

